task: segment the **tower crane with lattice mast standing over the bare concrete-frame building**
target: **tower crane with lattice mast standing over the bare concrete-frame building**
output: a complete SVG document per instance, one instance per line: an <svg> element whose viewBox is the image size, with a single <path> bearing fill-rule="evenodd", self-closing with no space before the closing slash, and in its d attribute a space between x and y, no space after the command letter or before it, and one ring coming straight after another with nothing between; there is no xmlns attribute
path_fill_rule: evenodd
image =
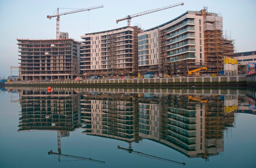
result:
<svg viewBox="0 0 256 168"><path fill-rule="evenodd" d="M93 6L90 8L84 8L84 9L79 9L75 11L69 11L69 12L64 12L64 13L59 13L59 8L57 8L57 14L56 15L47 15L47 18L52 19L53 17L57 17L57 26L56 26L56 39L60 39L60 16L61 15L67 15L71 13L76 13L76 12L83 12L83 11L90 11L92 9L97 9L97 8L103 8L103 5L100 6Z"/></svg>

